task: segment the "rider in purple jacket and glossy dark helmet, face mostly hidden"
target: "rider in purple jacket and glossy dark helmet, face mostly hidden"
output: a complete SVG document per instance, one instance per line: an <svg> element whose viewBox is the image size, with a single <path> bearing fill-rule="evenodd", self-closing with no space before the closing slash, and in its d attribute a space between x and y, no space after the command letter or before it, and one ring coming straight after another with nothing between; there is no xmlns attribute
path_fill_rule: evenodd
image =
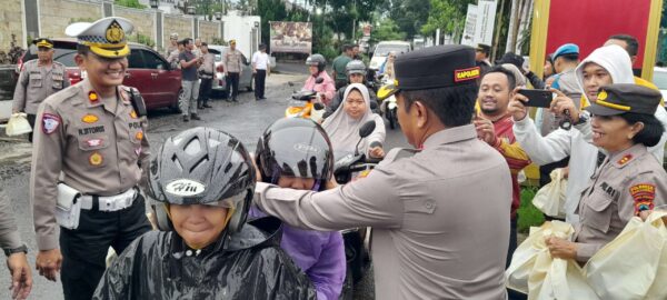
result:
<svg viewBox="0 0 667 300"><path fill-rule="evenodd" d="M325 190L334 171L331 143L311 120L288 118L269 126L257 143L261 181L282 188ZM265 216L257 208L250 217ZM338 231L302 230L283 224L280 246L308 274L318 300L336 300L346 276L342 236Z"/></svg>

